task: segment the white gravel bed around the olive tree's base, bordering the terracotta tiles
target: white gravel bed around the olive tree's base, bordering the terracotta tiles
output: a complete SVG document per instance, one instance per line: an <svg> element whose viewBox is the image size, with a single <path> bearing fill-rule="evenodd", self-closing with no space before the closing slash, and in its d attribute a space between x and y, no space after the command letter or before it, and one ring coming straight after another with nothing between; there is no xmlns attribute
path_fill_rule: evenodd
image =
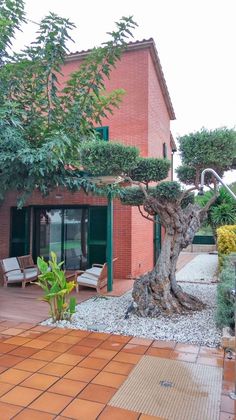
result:
<svg viewBox="0 0 236 420"><path fill-rule="evenodd" d="M141 318L131 314L125 319L126 310L132 302L131 292L128 292L121 297L91 298L77 305L71 322L59 321L53 324L49 319L42 325L217 347L221 331L215 325L216 285L192 283L183 284L182 288L205 302L206 309L159 318Z"/></svg>

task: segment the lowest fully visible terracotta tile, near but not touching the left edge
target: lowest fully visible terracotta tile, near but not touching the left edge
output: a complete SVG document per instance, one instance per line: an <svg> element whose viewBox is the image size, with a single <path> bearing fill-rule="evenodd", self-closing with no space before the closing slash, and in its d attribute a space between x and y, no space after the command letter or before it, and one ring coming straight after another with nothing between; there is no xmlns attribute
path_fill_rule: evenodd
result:
<svg viewBox="0 0 236 420"><path fill-rule="evenodd" d="M30 408L46 413L59 414L70 402L72 398L65 395L54 394L52 392L44 392Z"/></svg>

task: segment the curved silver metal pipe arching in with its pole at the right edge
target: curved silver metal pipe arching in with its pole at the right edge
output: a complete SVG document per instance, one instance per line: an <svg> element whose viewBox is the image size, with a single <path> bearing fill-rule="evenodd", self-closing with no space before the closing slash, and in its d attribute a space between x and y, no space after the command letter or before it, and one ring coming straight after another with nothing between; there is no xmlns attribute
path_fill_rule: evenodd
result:
<svg viewBox="0 0 236 420"><path fill-rule="evenodd" d="M204 171L202 171L201 174L201 185L200 185L200 189L199 189L199 195L204 195L204 176L206 172L211 172L215 178L226 188L226 190L228 191L228 193L236 200L236 195L233 193L233 191L228 187L228 185L226 185L224 183L224 181L222 180L222 178L217 174L216 171L214 171L214 169L211 168L206 168L204 169ZM234 261L234 267L235 267L235 289L230 291L230 294L233 298L234 301L234 333L235 333L235 345L236 345L236 261ZM234 391L231 391L229 393L229 396L232 400L236 400L236 348L235 350L235 365L234 365L234 370L235 370L235 375L234 375Z"/></svg>

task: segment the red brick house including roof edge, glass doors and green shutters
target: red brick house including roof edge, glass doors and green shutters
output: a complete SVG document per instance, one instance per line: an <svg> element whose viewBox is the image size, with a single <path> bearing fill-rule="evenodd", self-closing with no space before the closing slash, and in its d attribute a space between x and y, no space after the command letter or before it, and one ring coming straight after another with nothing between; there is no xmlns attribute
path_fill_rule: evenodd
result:
<svg viewBox="0 0 236 420"><path fill-rule="evenodd" d="M76 70L87 52L67 57L64 77ZM130 43L106 83L107 90L123 88L120 109L104 119L101 132L109 141L136 146L144 157L172 160L175 143L170 120L175 119L167 85L152 39ZM173 169L172 169L173 171ZM170 177L173 174L170 174ZM31 253L47 257L51 250L67 269L106 260L107 201L105 198L55 190L42 198L35 192L22 210L9 192L0 207L0 258ZM115 278L131 278L153 267L158 229L137 208L114 202L113 255ZM142 228L140 228L142 226Z"/></svg>

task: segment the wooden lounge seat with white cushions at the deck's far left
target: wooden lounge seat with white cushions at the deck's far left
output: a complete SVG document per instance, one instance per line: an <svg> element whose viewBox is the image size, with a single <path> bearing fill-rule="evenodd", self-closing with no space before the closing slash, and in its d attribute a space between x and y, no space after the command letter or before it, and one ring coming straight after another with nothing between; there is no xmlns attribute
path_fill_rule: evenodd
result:
<svg viewBox="0 0 236 420"><path fill-rule="evenodd" d="M25 287L27 282L36 280L38 277L38 269L35 265L27 268L21 268L16 257L0 260L0 266L3 275L4 287L7 287L9 283L19 282L22 283L22 287Z"/></svg>

